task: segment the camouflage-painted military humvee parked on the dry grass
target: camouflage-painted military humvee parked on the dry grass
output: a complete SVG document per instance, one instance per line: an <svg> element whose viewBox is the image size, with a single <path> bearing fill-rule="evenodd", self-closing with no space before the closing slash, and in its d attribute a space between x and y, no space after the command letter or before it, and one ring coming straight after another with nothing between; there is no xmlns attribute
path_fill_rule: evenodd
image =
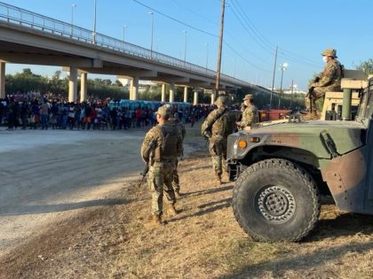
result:
<svg viewBox="0 0 373 279"><path fill-rule="evenodd" d="M298 241L315 226L320 195L373 213L373 78L342 80L344 120L297 120L228 136L234 216L259 241ZM360 105L351 117L352 90Z"/></svg>

